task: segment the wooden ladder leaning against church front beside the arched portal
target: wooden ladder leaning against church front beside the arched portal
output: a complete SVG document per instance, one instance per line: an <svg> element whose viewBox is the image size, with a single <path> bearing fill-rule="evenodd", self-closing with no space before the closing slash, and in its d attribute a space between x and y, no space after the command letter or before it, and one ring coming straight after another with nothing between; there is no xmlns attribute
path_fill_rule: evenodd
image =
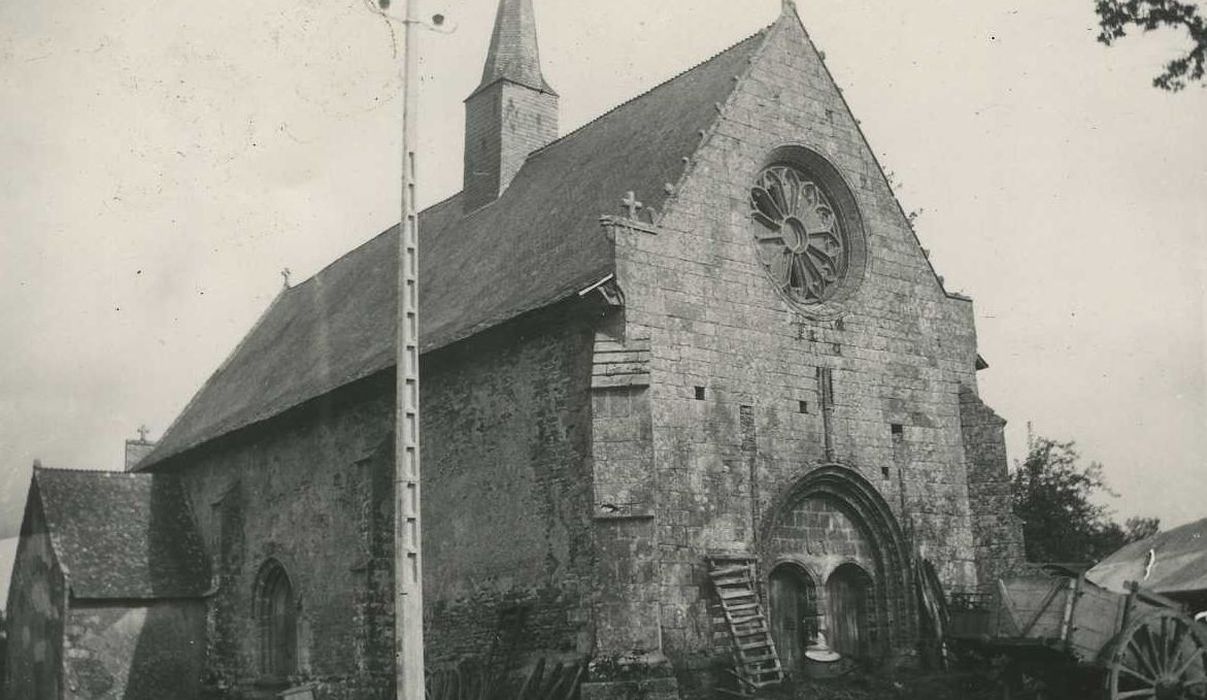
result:
<svg viewBox="0 0 1207 700"><path fill-rule="evenodd" d="M734 641L742 694L782 682L783 667L754 588L754 564L710 560L709 578L717 590Z"/></svg>

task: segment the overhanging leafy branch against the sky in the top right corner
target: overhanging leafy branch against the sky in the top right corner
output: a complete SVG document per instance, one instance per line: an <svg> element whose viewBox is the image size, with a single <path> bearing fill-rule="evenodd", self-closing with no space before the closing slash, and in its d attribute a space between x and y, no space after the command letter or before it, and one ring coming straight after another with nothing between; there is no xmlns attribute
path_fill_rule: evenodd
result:
<svg viewBox="0 0 1207 700"><path fill-rule="evenodd" d="M1165 71L1153 78L1153 84L1177 92L1190 82L1203 80L1207 63L1207 21L1196 2L1182 0L1096 0L1098 41L1110 46L1130 29L1153 31L1161 28L1184 28L1190 34L1191 47L1165 65Z"/></svg>

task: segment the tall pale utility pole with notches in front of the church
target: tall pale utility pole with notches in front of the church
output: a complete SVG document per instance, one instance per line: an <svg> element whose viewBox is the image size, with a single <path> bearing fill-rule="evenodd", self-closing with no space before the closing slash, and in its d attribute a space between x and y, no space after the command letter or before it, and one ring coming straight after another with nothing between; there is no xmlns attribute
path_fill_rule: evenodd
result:
<svg viewBox="0 0 1207 700"><path fill-rule="evenodd" d="M398 357L393 451L393 651L397 700L424 700L424 576L419 526L419 0L407 0L402 75L402 218L398 224Z"/></svg>

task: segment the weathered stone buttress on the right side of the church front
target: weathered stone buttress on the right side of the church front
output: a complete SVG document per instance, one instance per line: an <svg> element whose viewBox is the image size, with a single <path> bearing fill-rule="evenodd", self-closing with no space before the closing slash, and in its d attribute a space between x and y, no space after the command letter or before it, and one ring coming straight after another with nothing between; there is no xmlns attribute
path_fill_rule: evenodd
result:
<svg viewBox="0 0 1207 700"><path fill-rule="evenodd" d="M960 392L960 422L968 459L976 581L987 591L1026 561L1022 521L1014 514L1005 420L966 387Z"/></svg>

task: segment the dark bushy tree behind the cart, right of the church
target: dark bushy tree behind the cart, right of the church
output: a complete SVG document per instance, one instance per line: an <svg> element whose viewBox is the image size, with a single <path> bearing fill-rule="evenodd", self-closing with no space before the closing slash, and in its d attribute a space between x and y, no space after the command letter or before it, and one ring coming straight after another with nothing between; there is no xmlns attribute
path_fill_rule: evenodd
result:
<svg viewBox="0 0 1207 700"><path fill-rule="evenodd" d="M1014 512L1022 520L1030 561L1096 562L1160 527L1156 518L1113 521L1110 511L1094 502L1100 494L1115 495L1102 466L1083 466L1072 442L1033 438L1026 460L1015 467Z"/></svg>

